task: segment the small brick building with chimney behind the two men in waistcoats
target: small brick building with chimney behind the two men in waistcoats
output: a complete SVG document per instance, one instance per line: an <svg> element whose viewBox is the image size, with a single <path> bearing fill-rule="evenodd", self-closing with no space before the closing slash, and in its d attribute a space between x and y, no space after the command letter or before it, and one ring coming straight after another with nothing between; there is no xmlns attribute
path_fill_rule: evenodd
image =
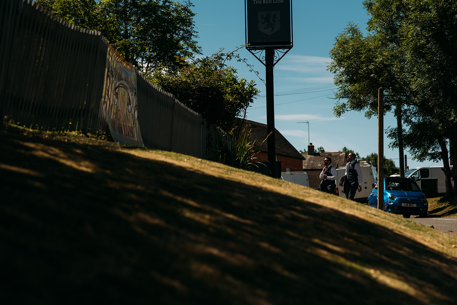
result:
<svg viewBox="0 0 457 305"><path fill-rule="evenodd" d="M322 172L322 168L324 167L324 159L327 157L332 158L333 167L344 167L346 165L346 158L344 151L337 151L337 152L324 152L324 153L317 153L314 152L314 145L313 143L309 143L308 145L308 153L302 154L303 157L306 159L303 160L303 171L306 171L308 174L309 180L309 187L318 189L320 185L319 174ZM337 184L339 181L336 182Z"/></svg>

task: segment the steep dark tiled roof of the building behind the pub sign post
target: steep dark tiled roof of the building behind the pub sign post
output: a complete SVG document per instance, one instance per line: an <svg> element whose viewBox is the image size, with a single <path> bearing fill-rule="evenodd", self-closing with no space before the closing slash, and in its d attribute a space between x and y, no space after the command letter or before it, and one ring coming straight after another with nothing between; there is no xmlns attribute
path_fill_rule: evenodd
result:
<svg viewBox="0 0 457 305"><path fill-rule="evenodd" d="M239 119L241 120L241 119ZM251 141L255 140L255 143L261 143L267 136L267 129L266 124L244 120L244 124L248 124L251 128ZM268 152L267 149L267 141L265 141L260 146L260 151ZM297 158L297 159L305 159L303 155L298 152L298 150L287 141L286 138L275 128L275 148L276 148L276 155L285 155L287 157Z"/></svg>

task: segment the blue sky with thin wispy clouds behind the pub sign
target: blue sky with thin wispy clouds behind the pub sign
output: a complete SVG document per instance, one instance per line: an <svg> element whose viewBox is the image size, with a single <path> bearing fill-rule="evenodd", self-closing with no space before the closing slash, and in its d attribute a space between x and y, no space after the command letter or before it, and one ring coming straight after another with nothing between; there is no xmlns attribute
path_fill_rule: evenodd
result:
<svg viewBox="0 0 457 305"><path fill-rule="evenodd" d="M245 43L244 0L191 0L192 11L204 55L216 53L219 48L232 51ZM340 118L333 115L335 100L333 75L326 67L329 51L337 36L349 22L366 28L369 16L362 0L293 0L293 48L274 68L275 95L285 91L305 93L275 96L275 127L297 149L323 146L326 151L340 151L347 147L366 156L377 152L377 118L367 119L362 112L347 112ZM246 49L240 55L253 64L265 79L265 66ZM247 118L266 123L265 85L241 63L232 62L240 78L255 80L260 97L248 110ZM314 92L312 92L314 91ZM384 118L384 128L395 126L392 114ZM390 140L384 137L384 155L399 165L398 150L388 148ZM413 161L409 152L408 166L441 166L441 163Z"/></svg>

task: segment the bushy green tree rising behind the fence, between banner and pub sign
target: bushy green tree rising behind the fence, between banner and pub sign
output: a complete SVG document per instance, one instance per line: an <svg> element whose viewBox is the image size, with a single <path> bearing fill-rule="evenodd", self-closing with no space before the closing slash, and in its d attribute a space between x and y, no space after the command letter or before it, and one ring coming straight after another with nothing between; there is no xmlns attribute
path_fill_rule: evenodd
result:
<svg viewBox="0 0 457 305"><path fill-rule="evenodd" d="M238 49L237 49L238 50ZM245 118L250 104L260 92L255 81L239 78L227 61L240 59L236 51L194 59L180 70L167 70L151 82L176 96L210 123L230 131L236 117Z"/></svg>

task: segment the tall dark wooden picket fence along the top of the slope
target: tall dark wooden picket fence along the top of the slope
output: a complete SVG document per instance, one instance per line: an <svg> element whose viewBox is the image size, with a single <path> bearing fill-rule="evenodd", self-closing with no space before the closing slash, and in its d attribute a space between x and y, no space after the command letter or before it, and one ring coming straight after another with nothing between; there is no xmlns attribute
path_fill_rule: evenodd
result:
<svg viewBox="0 0 457 305"><path fill-rule="evenodd" d="M31 0L0 1L0 28L0 120L46 130L106 129L108 43L100 32L74 26ZM143 144L214 159L222 132L136 73Z"/></svg>

